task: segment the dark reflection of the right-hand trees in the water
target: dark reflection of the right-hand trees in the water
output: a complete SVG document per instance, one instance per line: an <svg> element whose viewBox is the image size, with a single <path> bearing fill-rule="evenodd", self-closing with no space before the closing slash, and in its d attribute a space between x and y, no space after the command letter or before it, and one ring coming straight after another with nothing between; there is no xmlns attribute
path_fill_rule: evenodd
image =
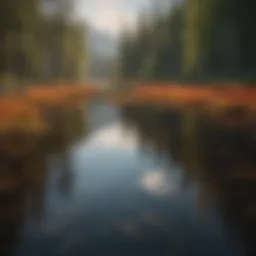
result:
<svg viewBox="0 0 256 256"><path fill-rule="evenodd" d="M127 106L124 123L139 133L141 144L178 164L185 183L198 184L199 212L218 203L224 226L254 255L256 242L255 127L229 128L195 109Z"/></svg>

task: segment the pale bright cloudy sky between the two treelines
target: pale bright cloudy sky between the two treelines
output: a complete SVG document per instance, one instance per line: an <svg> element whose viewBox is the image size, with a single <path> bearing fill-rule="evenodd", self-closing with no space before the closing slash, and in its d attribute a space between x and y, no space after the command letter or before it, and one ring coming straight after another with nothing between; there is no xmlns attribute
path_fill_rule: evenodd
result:
<svg viewBox="0 0 256 256"><path fill-rule="evenodd" d="M152 0L75 0L76 12L89 25L112 36L121 29L133 30L140 10Z"/></svg>

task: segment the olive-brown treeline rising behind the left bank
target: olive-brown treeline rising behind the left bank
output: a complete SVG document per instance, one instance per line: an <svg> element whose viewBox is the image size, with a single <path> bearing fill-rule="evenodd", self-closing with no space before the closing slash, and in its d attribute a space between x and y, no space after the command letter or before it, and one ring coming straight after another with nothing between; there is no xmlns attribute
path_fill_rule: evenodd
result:
<svg viewBox="0 0 256 256"><path fill-rule="evenodd" d="M55 6L49 8L49 3ZM72 1L70 1L72 2ZM0 83L81 80L86 71L85 27L66 1L2 0Z"/></svg>

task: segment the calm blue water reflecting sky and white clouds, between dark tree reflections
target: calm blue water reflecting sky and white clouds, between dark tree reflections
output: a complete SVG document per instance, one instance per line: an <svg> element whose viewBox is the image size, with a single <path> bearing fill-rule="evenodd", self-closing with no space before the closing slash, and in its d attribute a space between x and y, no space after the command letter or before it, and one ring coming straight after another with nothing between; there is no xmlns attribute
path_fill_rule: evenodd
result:
<svg viewBox="0 0 256 256"><path fill-rule="evenodd" d="M198 214L198 185L142 150L118 109L92 103L87 125L65 154L47 157L40 218L26 199L13 255L246 255L218 205Z"/></svg>

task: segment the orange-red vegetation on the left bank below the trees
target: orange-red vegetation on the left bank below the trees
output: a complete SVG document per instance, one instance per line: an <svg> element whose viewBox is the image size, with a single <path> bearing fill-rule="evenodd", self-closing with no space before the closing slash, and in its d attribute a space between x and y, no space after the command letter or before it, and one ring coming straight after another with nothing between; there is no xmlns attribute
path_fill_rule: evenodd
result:
<svg viewBox="0 0 256 256"><path fill-rule="evenodd" d="M77 107L96 91L89 86L62 85L27 89L0 98L0 132L41 132L47 128L42 107Z"/></svg>

